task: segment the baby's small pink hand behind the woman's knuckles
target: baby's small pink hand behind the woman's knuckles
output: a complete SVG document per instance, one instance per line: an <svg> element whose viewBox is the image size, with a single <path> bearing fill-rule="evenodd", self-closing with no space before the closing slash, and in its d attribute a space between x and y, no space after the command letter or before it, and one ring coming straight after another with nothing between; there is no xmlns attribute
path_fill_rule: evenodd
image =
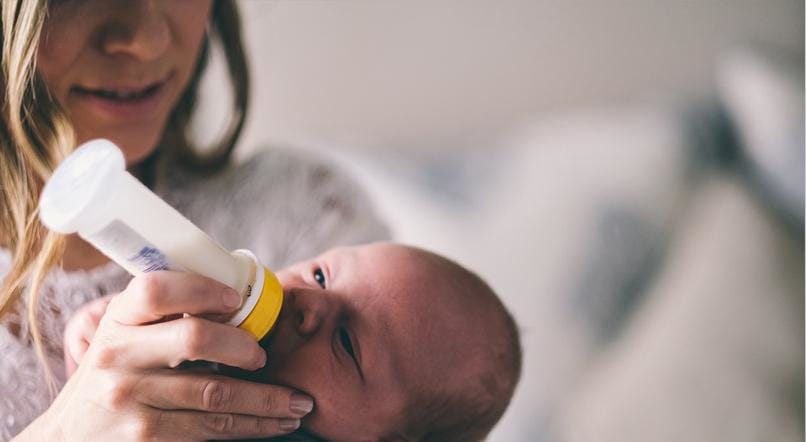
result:
<svg viewBox="0 0 806 442"><path fill-rule="evenodd" d="M107 295L84 304L64 329L64 368L67 377L73 375L95 336L95 330L106 313L106 306L114 295Z"/></svg>

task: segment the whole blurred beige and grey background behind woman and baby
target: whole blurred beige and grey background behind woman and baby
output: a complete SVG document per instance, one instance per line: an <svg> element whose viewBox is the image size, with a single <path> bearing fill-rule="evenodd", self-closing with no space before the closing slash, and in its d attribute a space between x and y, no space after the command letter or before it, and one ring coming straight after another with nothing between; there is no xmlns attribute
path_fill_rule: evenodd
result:
<svg viewBox="0 0 806 442"><path fill-rule="evenodd" d="M241 6L241 158L348 169L514 312L490 440L803 440L802 0Z"/></svg>

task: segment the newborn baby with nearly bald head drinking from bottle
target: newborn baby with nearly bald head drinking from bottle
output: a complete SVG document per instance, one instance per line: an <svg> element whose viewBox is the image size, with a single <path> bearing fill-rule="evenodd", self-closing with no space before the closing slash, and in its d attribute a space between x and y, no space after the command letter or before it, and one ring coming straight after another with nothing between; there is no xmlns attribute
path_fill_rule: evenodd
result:
<svg viewBox="0 0 806 442"><path fill-rule="evenodd" d="M266 366L228 374L313 397L302 432L481 440L506 409L520 376L518 332L489 286L458 264L379 243L333 249L277 277L285 301L261 343Z"/></svg>

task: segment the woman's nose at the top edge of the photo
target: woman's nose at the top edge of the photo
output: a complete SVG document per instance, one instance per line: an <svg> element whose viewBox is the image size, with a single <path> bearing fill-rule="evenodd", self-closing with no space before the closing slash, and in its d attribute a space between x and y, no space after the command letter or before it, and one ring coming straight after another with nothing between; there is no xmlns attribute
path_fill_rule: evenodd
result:
<svg viewBox="0 0 806 442"><path fill-rule="evenodd" d="M125 1L125 11L110 20L101 33L101 50L107 55L130 56L141 61L160 58L171 43L168 16L159 2Z"/></svg>

